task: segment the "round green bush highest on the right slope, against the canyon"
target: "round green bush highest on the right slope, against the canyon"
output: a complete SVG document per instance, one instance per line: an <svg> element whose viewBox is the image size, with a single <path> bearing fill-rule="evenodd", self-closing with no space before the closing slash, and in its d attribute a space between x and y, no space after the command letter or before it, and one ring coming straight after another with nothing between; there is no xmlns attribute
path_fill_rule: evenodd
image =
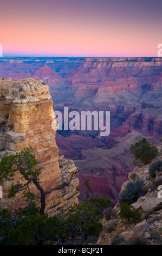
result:
<svg viewBox="0 0 162 256"><path fill-rule="evenodd" d="M141 141L131 145L130 150L132 151L135 160L134 163L138 164L139 161L144 164L148 164L157 155L158 149L153 143L150 143L143 138Z"/></svg>

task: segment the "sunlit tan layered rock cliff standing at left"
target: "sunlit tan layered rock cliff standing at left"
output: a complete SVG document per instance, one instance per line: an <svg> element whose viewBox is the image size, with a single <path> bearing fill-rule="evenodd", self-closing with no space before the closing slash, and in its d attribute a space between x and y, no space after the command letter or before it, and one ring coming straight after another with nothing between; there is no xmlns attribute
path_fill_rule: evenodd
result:
<svg viewBox="0 0 162 256"><path fill-rule="evenodd" d="M14 154L24 148L32 147L36 151L39 167L44 167L40 174L44 190L60 184L64 168L69 172L76 170L73 161L59 156L55 142L58 129L55 120L53 101L49 88L43 81L24 79L13 82L11 79L0 79L0 159L5 154ZM63 165L59 167L59 161ZM14 182L20 176L15 175ZM14 199L8 199L8 189L12 181L4 181L3 199L1 207L16 208L22 201L22 194L17 193ZM53 214L58 209L66 211L69 205L77 202L76 186L79 180L75 177L70 186L62 190L51 192L46 198L46 211ZM36 194L36 203L39 205L40 195L34 185L31 190Z"/></svg>

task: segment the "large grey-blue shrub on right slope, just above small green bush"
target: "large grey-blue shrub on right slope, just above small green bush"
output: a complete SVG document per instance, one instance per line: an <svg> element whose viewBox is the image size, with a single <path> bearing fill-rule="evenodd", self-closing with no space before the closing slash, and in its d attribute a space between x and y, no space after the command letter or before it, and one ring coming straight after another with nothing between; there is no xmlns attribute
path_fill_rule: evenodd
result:
<svg viewBox="0 0 162 256"><path fill-rule="evenodd" d="M143 180L137 180L133 182L128 182L126 185L126 189L122 191L119 203L128 203L132 204L137 201L137 199L141 196L144 196L146 194L146 191L143 188L144 181Z"/></svg>

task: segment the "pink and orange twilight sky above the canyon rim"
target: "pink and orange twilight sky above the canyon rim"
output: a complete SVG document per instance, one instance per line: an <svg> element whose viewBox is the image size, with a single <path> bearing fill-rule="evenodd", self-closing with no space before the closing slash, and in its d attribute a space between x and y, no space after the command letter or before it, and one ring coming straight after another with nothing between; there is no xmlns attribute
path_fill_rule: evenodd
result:
<svg viewBox="0 0 162 256"><path fill-rule="evenodd" d="M3 57L158 57L161 0L5 0Z"/></svg>

